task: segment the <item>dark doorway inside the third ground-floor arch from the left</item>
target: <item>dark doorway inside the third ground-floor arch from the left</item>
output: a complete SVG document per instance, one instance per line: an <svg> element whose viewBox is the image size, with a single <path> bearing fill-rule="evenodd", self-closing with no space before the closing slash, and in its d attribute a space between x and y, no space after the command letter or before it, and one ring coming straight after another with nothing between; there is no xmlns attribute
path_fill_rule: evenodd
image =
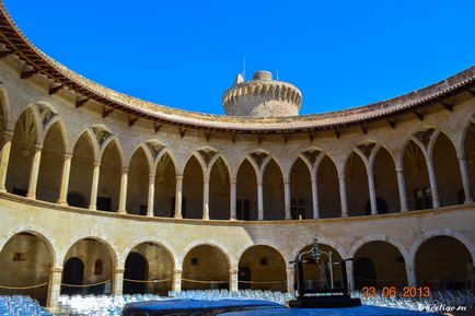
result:
<svg viewBox="0 0 475 316"><path fill-rule="evenodd" d="M124 279L144 281L147 280L148 262L139 253L130 253L126 260ZM124 280L124 294L144 293L146 283Z"/></svg>

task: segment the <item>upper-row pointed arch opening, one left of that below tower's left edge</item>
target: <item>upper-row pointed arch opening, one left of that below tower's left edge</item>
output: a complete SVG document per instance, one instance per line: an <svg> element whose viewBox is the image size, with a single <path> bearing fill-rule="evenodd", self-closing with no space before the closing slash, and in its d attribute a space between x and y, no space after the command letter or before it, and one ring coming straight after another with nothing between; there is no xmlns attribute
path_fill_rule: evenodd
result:
<svg viewBox="0 0 475 316"><path fill-rule="evenodd" d="M202 219L202 168L192 155L183 173L182 215L184 219Z"/></svg>

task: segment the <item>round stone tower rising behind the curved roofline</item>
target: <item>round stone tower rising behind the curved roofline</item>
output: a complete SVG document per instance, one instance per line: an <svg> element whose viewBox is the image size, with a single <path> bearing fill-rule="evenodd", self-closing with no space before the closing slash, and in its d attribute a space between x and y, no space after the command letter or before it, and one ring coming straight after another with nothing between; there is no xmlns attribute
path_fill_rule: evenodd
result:
<svg viewBox="0 0 475 316"><path fill-rule="evenodd" d="M300 90L290 83L273 80L268 71L257 71L248 81L238 74L234 85L222 95L225 114L233 116L297 116L301 104Z"/></svg>

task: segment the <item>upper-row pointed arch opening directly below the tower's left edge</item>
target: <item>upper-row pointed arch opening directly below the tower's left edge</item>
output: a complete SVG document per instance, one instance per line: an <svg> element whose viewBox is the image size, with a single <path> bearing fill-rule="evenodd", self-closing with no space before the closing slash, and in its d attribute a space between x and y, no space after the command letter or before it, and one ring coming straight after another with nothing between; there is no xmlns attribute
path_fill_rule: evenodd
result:
<svg viewBox="0 0 475 316"><path fill-rule="evenodd" d="M209 178L209 218L211 220L229 220L229 171L223 159L219 157L211 167Z"/></svg>

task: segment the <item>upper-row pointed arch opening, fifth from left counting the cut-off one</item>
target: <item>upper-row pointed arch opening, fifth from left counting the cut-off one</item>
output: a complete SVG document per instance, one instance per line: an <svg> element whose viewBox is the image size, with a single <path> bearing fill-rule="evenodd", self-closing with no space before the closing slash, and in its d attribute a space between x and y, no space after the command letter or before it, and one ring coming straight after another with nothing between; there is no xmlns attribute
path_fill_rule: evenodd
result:
<svg viewBox="0 0 475 316"><path fill-rule="evenodd" d="M120 195L121 165L121 155L117 141L113 140L107 144L101 159L96 201L97 210L107 212L117 211Z"/></svg>

